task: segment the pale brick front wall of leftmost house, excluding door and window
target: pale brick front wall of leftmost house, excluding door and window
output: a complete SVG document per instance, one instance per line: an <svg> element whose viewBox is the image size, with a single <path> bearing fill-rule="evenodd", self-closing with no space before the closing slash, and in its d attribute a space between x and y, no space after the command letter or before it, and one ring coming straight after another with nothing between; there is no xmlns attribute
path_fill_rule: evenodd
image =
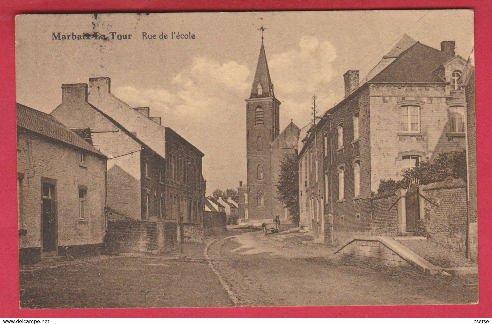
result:
<svg viewBox="0 0 492 324"><path fill-rule="evenodd" d="M105 159L87 153L85 167L80 166L76 149L29 132L20 131L17 136L19 229L27 231L19 235L19 248L38 251L40 247L41 177L56 180L58 246L101 244L105 228ZM79 185L87 187L85 221L78 220Z"/></svg>

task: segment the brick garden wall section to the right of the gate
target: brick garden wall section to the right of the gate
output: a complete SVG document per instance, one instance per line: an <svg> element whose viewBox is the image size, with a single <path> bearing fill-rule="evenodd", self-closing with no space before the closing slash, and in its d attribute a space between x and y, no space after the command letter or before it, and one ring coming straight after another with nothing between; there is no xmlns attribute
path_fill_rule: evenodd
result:
<svg viewBox="0 0 492 324"><path fill-rule="evenodd" d="M438 244L458 252L466 247L466 185L461 179L429 184L421 199L426 229ZM422 216L421 216L422 217Z"/></svg>

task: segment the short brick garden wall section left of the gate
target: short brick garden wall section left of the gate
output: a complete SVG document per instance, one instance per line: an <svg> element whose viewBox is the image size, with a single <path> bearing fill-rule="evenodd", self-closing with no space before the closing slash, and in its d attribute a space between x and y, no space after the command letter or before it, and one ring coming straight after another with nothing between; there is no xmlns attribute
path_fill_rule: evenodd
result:
<svg viewBox="0 0 492 324"><path fill-rule="evenodd" d="M371 233L373 235L398 235L398 196L395 190L374 195L371 205Z"/></svg>

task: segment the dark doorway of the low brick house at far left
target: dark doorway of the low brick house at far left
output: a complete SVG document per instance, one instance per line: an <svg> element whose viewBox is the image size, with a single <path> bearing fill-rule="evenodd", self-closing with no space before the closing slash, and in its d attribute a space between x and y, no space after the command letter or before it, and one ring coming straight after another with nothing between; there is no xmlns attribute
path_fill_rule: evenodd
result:
<svg viewBox="0 0 492 324"><path fill-rule="evenodd" d="M56 185L41 183L41 257L58 255Z"/></svg>

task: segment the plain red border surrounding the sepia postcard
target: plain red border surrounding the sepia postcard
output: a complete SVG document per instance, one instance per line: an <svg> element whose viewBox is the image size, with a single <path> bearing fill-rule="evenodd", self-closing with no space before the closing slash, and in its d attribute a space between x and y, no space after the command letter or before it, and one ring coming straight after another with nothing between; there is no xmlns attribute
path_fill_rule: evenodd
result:
<svg viewBox="0 0 492 324"><path fill-rule="evenodd" d="M0 172L3 179L0 199L0 317L18 318L154 318L154 317L333 317L333 318L490 318L492 222L487 193L492 192L492 172L487 171L491 154L487 129L492 125L490 0L13 0L0 3ZM19 309L18 234L16 227L16 124L15 124L15 43L14 19L21 13L91 12L173 12L242 10L343 10L343 9L438 9L470 8L475 16L476 131L478 173L479 303L474 305L432 306L342 306L263 308L164 308L164 309ZM489 206L489 207L488 207Z"/></svg>

